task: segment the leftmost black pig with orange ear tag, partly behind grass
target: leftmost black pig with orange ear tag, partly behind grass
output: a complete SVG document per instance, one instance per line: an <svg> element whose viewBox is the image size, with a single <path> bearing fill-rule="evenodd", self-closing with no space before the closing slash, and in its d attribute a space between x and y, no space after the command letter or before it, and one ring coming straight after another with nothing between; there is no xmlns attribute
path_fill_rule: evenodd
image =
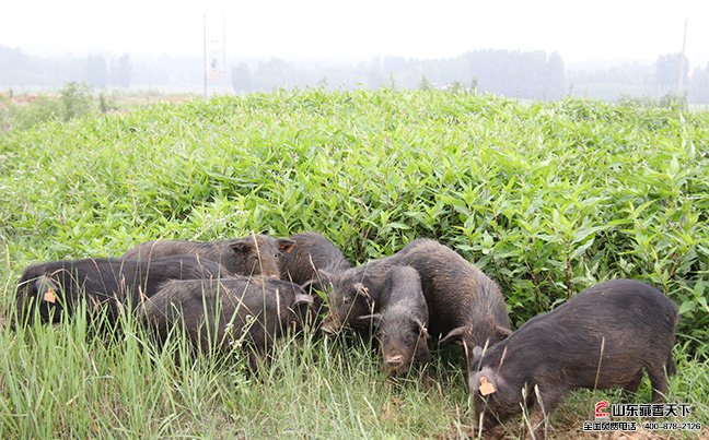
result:
<svg viewBox="0 0 709 440"><path fill-rule="evenodd" d="M226 270L213 261L193 255L153 260L83 259L27 266L18 283L18 319L25 322L38 308L43 322L59 322L73 314L80 300L92 312L106 310L115 322L123 307L136 307L167 280L219 277Z"/></svg>

